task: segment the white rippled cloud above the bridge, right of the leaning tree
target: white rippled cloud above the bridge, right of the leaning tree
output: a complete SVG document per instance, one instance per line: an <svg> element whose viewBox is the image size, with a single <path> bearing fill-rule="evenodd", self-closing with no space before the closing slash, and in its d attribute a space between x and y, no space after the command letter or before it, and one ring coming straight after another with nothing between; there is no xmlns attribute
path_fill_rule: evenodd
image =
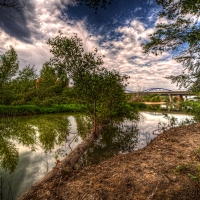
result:
<svg viewBox="0 0 200 200"><path fill-rule="evenodd" d="M118 40L102 44L102 48L110 47L105 50L105 66L129 75L129 89L137 89L138 85L140 88L175 88L175 85L164 77L180 74L180 64L170 59L167 53L155 56L144 55L142 52L142 42L148 40L154 29L146 29L144 24L133 20L130 26L118 27L115 31L122 36Z"/></svg>

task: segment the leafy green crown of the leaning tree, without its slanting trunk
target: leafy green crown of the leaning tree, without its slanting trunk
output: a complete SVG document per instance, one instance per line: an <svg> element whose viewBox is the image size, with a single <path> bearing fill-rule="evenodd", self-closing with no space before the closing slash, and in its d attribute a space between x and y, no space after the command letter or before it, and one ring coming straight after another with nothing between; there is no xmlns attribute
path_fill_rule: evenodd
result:
<svg viewBox="0 0 200 200"><path fill-rule="evenodd" d="M72 80L77 99L86 105L94 127L108 118L138 117L135 110L126 106L124 90L128 77L102 67L103 60L97 55L97 49L84 52L82 40L76 34L67 38L62 32L47 43L53 54L51 65Z"/></svg>

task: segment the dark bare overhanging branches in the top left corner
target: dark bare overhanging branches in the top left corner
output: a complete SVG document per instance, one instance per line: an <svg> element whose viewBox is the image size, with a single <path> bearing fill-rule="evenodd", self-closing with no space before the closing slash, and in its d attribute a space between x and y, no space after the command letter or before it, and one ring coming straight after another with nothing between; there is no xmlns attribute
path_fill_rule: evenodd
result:
<svg viewBox="0 0 200 200"><path fill-rule="evenodd" d="M3 7L6 8L13 8L17 11L22 11L23 7L25 6L23 1L19 0L0 0L0 9Z"/></svg>

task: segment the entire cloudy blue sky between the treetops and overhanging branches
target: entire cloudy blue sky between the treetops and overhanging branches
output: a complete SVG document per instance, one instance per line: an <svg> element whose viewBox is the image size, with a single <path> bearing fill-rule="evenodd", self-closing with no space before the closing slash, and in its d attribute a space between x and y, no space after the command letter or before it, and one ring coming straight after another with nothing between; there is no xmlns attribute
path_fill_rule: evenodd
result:
<svg viewBox="0 0 200 200"><path fill-rule="evenodd" d="M130 76L128 90L148 88L176 89L166 76L182 72L181 64L169 53L146 55L141 44L149 41L158 22L160 7L149 0L114 0L97 14L73 0L26 0L23 12L0 10L0 54L12 45L20 69L34 65L37 73L52 57L49 38L61 30L67 37L74 33L83 41L86 52L98 49L104 67Z"/></svg>

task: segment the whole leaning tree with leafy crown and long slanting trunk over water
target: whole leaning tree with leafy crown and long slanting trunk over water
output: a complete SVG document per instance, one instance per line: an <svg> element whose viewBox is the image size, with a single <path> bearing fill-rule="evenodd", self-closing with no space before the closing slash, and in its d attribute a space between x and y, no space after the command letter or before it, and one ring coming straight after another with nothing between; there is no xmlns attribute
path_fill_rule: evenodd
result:
<svg viewBox="0 0 200 200"><path fill-rule="evenodd" d="M134 114L133 109L127 109L126 96L124 95L127 77L120 76L119 73L108 71L102 67L103 60L100 56L97 56L97 49L94 52L86 53L82 47L82 41L77 35L67 38L61 32L55 38L49 39L47 43L51 45L50 52L53 54L50 63L55 67L58 74L66 72L72 80L78 98L86 104L88 112L91 112L94 128L90 130L89 136L80 145L60 161L54 170L34 184L20 198L21 200L34 199L35 189L41 188L42 185L53 179L61 180L62 177L66 177L66 172L74 167L108 124L107 118L110 113L102 115L102 113L105 113L104 106L107 105L108 109L112 109L112 119L117 118L118 115L120 115L120 118L125 118L127 114L132 119L138 119L138 114L136 112ZM108 90L106 90L106 87ZM117 100L118 97L119 101ZM112 104L112 102L118 103Z"/></svg>

